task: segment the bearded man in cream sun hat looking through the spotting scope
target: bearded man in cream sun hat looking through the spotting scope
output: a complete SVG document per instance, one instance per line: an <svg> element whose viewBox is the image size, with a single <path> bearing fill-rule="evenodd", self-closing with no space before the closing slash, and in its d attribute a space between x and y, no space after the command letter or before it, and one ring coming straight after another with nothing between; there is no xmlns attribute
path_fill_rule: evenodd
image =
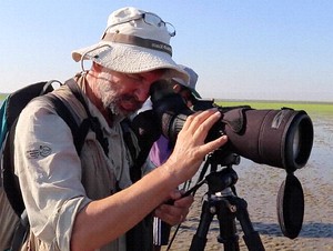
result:
<svg viewBox="0 0 333 251"><path fill-rule="evenodd" d="M92 61L89 71L68 83L80 88L100 123L107 151L90 130L79 157L69 127L43 99L22 111L14 161L31 225L30 250L128 250L127 232L155 209L170 224L184 220L193 198L181 198L175 188L196 172L206 153L226 141L221 137L204 143L220 113L208 110L189 117L168 161L135 183L121 128L121 121L147 100L154 81L170 77L186 81L171 58L174 30L169 26L157 14L123 8L111 13L100 42L72 53L82 66L83 60ZM79 122L87 117L67 86L52 94ZM169 199L174 203L163 204Z"/></svg>

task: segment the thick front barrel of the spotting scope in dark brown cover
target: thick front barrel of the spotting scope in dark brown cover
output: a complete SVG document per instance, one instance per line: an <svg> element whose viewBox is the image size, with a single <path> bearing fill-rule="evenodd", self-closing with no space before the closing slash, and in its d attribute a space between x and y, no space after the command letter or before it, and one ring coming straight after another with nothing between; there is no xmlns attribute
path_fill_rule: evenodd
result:
<svg viewBox="0 0 333 251"><path fill-rule="evenodd" d="M243 121L242 131L235 132L231 123L225 123L229 149L251 159L276 168L294 171L303 168L313 144L313 126L305 111L283 108L281 110L242 110L238 118L224 120ZM232 116L233 117L233 116Z"/></svg>

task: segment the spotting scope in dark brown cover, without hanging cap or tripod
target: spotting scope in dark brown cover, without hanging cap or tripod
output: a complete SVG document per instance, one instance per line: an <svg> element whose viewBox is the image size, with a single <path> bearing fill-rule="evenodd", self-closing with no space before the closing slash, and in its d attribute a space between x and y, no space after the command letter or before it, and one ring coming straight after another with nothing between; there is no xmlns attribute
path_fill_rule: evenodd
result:
<svg viewBox="0 0 333 251"><path fill-rule="evenodd" d="M175 142L190 114L218 108L222 119L212 127L206 142L226 134L229 141L222 147L223 151L236 153L256 163L285 169L289 173L303 168L310 158L313 124L303 110L220 107L213 100L200 99L194 99L194 106L190 109L164 80L153 83L150 94L162 133L171 142Z"/></svg>

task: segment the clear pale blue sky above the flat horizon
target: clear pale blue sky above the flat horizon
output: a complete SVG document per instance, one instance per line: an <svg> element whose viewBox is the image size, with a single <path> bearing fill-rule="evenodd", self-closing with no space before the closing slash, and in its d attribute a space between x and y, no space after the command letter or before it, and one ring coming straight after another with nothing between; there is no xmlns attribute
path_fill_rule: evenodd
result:
<svg viewBox="0 0 333 251"><path fill-rule="evenodd" d="M332 0L3 0L0 92L73 77L71 51L127 6L175 27L173 59L195 70L203 98L333 102Z"/></svg>

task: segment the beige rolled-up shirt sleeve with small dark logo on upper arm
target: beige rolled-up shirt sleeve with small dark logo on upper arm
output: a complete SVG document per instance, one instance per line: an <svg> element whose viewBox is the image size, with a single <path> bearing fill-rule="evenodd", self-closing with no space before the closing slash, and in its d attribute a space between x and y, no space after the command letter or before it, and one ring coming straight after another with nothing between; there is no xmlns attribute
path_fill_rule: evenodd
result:
<svg viewBox="0 0 333 251"><path fill-rule="evenodd" d="M50 247L70 250L74 218L91 201L70 128L44 102L33 101L19 118L14 145L31 230Z"/></svg>

